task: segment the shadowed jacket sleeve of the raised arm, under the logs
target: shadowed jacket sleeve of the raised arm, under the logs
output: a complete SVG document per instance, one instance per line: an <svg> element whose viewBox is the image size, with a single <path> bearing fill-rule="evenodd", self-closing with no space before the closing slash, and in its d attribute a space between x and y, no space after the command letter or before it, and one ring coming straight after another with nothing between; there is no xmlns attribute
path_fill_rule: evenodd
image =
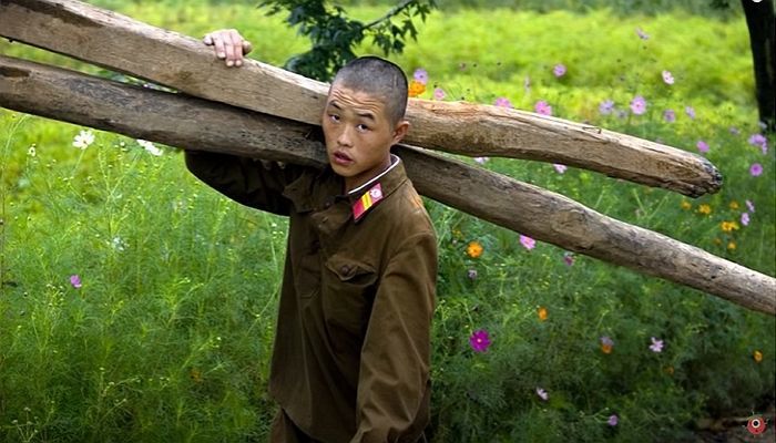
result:
<svg viewBox="0 0 776 443"><path fill-rule="evenodd" d="M233 200L277 215L288 215L290 202L283 189L302 167L229 154L186 151L186 167L197 178Z"/></svg>

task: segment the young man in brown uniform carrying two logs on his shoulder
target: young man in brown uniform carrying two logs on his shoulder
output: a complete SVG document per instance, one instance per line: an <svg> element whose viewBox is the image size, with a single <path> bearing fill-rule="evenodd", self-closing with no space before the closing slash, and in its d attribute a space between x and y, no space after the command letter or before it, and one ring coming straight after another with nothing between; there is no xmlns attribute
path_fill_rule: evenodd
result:
<svg viewBox="0 0 776 443"><path fill-rule="evenodd" d="M229 66L236 31L205 38ZM425 442L437 244L390 153L409 128L407 79L361 58L331 83L321 126L329 167L186 152L200 179L289 217L269 393L273 442Z"/></svg>

